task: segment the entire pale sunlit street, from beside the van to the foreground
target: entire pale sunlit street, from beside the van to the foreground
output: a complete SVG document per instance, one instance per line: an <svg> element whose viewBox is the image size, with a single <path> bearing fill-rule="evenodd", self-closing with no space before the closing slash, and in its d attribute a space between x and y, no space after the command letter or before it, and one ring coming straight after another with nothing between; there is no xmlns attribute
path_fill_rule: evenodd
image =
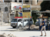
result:
<svg viewBox="0 0 50 37"><path fill-rule="evenodd" d="M46 31L47 36L50 37L50 31ZM13 34L16 37L41 37L40 31L21 31L17 28L13 29L11 26L0 26L0 34ZM20 36L19 36L20 35ZM44 35L42 37L45 37Z"/></svg>

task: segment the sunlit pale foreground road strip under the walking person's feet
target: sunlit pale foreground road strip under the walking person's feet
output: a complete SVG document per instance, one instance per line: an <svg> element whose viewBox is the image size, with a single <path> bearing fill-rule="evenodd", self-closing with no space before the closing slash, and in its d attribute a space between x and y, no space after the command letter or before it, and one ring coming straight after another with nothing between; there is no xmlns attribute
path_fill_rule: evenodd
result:
<svg viewBox="0 0 50 37"><path fill-rule="evenodd" d="M45 37L40 36L40 31L17 31L17 32L0 32L0 34L13 34L16 37ZM47 31L47 36L46 37L50 37L50 31Z"/></svg>

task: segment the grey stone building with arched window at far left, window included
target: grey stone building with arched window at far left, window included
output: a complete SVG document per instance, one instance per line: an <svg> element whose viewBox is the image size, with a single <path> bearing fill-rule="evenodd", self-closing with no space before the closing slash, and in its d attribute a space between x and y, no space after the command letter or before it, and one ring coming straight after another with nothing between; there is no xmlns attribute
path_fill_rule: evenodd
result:
<svg viewBox="0 0 50 37"><path fill-rule="evenodd" d="M3 22L9 21L9 13L10 13L10 3L0 2L0 16L3 18ZM0 18L1 18L0 17Z"/></svg>

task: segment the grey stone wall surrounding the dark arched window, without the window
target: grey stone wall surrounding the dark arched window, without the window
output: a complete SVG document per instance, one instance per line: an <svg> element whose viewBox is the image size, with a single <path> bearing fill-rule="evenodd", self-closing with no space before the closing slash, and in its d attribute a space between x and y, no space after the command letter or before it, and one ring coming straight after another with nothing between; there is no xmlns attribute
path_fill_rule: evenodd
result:
<svg viewBox="0 0 50 37"><path fill-rule="evenodd" d="M5 12L5 7L8 7L8 11ZM0 3L1 12L3 12L3 22L9 22L10 3Z"/></svg>

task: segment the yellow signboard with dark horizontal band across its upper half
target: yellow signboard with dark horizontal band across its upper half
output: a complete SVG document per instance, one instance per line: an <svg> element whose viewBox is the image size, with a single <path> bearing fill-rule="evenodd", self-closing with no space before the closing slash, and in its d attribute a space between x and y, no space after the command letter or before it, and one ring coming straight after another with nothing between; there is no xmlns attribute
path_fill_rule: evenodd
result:
<svg viewBox="0 0 50 37"><path fill-rule="evenodd" d="M30 5L23 5L23 18L31 18Z"/></svg>

